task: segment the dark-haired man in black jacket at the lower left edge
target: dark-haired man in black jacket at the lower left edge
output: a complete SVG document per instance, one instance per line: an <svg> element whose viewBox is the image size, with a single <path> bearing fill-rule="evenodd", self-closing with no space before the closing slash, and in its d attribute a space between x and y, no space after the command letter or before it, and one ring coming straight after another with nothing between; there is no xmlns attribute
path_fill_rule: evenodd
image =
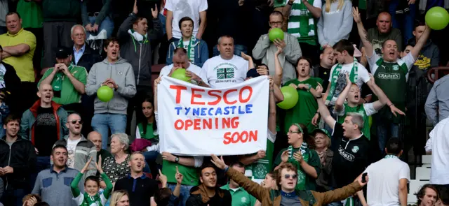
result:
<svg viewBox="0 0 449 206"><path fill-rule="evenodd" d="M29 171L36 164L34 147L18 135L19 126L20 118L8 115L4 123L6 135L0 140L0 179L1 186L5 185L4 200L0 202L5 205L22 204L29 188Z"/></svg>

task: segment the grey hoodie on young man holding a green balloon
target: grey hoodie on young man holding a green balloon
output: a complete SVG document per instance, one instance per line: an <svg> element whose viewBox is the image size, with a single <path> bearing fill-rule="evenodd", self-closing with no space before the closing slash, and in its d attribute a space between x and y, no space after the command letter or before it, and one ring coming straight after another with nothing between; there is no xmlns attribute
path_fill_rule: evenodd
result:
<svg viewBox="0 0 449 206"><path fill-rule="evenodd" d="M133 66L122 58L114 64L110 64L107 59L95 63L87 76L86 94L88 96L96 94L107 78L114 80L119 89L114 89L114 97L109 102L102 102L95 97L94 113L126 115L128 98L132 98L136 93Z"/></svg>

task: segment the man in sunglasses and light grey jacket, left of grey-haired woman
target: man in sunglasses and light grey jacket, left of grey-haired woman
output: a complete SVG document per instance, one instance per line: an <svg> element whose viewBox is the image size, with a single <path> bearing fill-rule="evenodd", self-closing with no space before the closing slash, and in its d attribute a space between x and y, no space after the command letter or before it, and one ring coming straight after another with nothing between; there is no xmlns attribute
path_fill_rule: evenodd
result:
<svg viewBox="0 0 449 206"><path fill-rule="evenodd" d="M81 128L83 128L81 116L76 113L69 115L65 126L69 128L69 135L65 135L64 138L55 142L55 145L64 145L67 147L67 167L81 171L89 159L92 158L93 161L91 161L89 168L96 168L95 162L97 160L97 150L95 149L93 142L87 140L81 134ZM97 170L88 170L84 174L83 179L95 175L96 173Z"/></svg>

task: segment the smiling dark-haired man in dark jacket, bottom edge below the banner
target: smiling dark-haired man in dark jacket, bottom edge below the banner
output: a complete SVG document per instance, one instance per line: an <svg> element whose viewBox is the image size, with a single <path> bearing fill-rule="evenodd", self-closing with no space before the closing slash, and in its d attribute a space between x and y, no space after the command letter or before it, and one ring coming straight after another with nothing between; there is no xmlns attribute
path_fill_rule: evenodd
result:
<svg viewBox="0 0 449 206"><path fill-rule="evenodd" d="M217 205L231 206L232 196L229 191L220 189L217 185L217 172L212 165L205 165L199 177L201 184L190 190L187 206Z"/></svg>

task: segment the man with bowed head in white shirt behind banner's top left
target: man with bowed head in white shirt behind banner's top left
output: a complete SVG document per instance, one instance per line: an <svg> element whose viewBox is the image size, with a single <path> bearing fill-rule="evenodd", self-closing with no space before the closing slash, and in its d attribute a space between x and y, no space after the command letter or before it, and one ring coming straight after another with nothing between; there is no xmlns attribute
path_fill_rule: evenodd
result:
<svg viewBox="0 0 449 206"><path fill-rule="evenodd" d="M177 70L178 68L186 69L186 76L190 78L192 84L197 84L201 87L209 87L208 84L204 83L206 77L201 75L201 68L189 62L187 59L187 50L185 48L176 48L173 52L173 64L168 66L164 66L161 69L161 73L159 73L159 77L161 76L169 76ZM200 77L201 76L201 77Z"/></svg>

